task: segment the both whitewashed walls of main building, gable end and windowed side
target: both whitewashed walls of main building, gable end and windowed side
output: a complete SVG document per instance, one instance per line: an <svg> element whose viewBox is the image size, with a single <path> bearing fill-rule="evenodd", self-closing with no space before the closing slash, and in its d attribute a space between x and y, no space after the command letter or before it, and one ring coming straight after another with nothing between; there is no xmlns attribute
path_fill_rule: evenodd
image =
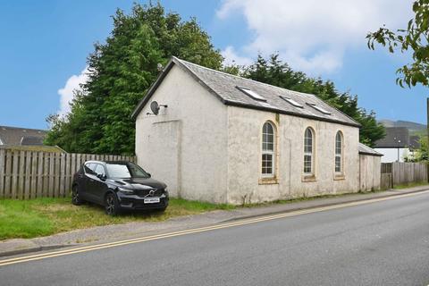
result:
<svg viewBox="0 0 429 286"><path fill-rule="evenodd" d="M151 113L156 100L160 114ZM276 126L276 180L261 180L262 127ZM315 130L315 180L303 177L304 131ZM343 134L343 178L334 144ZM359 190L358 128L223 103L173 66L136 120L138 163L172 197L242 204ZM376 163L374 163L376 164ZM380 167L378 167L379 171ZM366 184L367 185L367 184Z"/></svg>

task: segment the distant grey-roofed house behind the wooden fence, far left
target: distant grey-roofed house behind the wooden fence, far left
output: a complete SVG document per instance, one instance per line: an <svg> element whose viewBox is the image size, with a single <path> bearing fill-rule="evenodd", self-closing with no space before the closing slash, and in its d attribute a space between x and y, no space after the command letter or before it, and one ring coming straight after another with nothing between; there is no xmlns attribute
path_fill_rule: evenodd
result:
<svg viewBox="0 0 429 286"><path fill-rule="evenodd" d="M54 146L45 146L47 130L19 128L0 125L0 148L29 151L63 152Z"/></svg>

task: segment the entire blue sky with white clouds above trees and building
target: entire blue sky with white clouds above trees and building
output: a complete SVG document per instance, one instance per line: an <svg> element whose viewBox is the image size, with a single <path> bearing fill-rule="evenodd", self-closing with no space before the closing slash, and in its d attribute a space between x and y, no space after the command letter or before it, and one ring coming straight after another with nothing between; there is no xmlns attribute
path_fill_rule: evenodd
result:
<svg viewBox="0 0 429 286"><path fill-rule="evenodd" d="M0 125L46 129L46 116L62 108L59 89L69 79L81 79L93 43L103 42L112 29L110 16L118 7L129 11L132 3L0 2ZM411 16L409 1L332 0L329 7L316 0L161 3L183 19L197 17L229 62L249 63L257 53L279 52L296 70L357 94L359 105L379 119L425 122L427 89L395 84L395 71L408 55L366 48L367 30L383 23L404 26Z"/></svg>

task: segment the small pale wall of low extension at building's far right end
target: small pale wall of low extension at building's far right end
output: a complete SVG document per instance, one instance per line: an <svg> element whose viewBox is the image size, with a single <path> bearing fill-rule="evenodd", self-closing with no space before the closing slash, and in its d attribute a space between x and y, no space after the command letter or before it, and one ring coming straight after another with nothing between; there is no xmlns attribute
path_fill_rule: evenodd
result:
<svg viewBox="0 0 429 286"><path fill-rule="evenodd" d="M381 156L359 155L359 181L361 190L380 189L382 176L381 158Z"/></svg>

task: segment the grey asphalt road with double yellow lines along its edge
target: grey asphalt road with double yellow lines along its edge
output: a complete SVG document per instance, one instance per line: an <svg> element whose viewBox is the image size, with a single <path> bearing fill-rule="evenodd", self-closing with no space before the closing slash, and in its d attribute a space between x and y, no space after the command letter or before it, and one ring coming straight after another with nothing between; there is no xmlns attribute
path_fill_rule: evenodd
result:
<svg viewBox="0 0 429 286"><path fill-rule="evenodd" d="M370 194L375 200L324 207L312 201L306 210L209 230L7 257L0 259L1 284L428 285L429 192L398 193L408 195L377 193Z"/></svg>

